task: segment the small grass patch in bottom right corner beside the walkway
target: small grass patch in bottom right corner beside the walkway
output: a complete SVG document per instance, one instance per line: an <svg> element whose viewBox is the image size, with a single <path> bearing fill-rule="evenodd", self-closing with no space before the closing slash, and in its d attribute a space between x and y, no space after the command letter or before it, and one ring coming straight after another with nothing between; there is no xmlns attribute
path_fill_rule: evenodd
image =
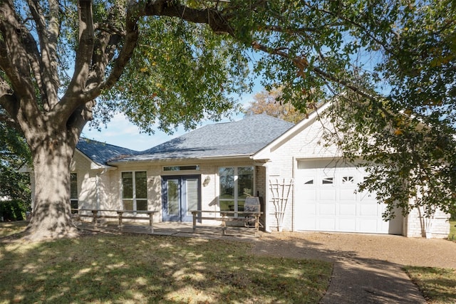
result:
<svg viewBox="0 0 456 304"><path fill-rule="evenodd" d="M456 269L408 266L405 271L428 303L456 303Z"/></svg>

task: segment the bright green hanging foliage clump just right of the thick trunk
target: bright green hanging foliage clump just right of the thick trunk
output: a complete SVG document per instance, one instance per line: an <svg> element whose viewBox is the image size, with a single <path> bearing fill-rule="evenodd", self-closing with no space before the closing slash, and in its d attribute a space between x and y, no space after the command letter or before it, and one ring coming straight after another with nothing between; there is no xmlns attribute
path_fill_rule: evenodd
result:
<svg viewBox="0 0 456 304"><path fill-rule="evenodd" d="M98 107L117 108L145 132L196 127L239 111L247 59L233 39L180 19L140 23L138 47Z"/></svg>

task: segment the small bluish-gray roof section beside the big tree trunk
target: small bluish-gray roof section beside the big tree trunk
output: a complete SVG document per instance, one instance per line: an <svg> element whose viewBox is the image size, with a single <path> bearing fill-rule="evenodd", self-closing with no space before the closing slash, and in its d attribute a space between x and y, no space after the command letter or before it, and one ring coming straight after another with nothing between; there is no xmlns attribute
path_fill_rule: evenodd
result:
<svg viewBox="0 0 456 304"><path fill-rule="evenodd" d="M108 161L120 159L122 157L132 156L138 154L138 151L133 151L127 148L109 145L104 142L97 142L96 140L88 140L81 138L76 145L76 149L81 151L83 154L93 162L105 165Z"/></svg>

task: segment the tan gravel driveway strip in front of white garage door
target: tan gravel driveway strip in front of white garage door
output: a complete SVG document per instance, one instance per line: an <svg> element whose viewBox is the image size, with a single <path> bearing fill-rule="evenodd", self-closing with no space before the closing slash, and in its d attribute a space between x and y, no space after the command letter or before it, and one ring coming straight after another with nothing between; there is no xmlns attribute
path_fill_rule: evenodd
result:
<svg viewBox="0 0 456 304"><path fill-rule="evenodd" d="M283 232L263 234L254 252L264 256L324 261L368 259L404 266L456 269L456 243L380 234Z"/></svg>

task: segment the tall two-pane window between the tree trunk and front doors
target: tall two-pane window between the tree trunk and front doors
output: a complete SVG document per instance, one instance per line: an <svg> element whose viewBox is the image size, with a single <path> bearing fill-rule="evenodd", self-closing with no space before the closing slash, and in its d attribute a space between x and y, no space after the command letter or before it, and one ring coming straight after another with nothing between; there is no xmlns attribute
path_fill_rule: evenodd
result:
<svg viewBox="0 0 456 304"><path fill-rule="evenodd" d="M124 210L147 210L147 174L145 171L122 172Z"/></svg>

